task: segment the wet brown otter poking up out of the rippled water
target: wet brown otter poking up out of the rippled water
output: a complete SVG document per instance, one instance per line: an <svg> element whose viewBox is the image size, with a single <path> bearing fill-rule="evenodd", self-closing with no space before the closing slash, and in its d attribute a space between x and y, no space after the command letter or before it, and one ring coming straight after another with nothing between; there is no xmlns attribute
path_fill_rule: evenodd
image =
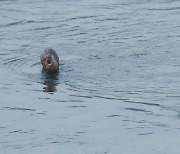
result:
<svg viewBox="0 0 180 154"><path fill-rule="evenodd" d="M57 73L59 71L59 56L52 48L46 48L40 56L42 71L45 73Z"/></svg>

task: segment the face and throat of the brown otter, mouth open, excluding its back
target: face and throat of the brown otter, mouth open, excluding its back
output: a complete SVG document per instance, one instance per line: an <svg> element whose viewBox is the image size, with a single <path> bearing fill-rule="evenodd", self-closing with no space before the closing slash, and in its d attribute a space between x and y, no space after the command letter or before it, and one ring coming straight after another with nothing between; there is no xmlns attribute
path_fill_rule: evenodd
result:
<svg viewBox="0 0 180 154"><path fill-rule="evenodd" d="M42 61L43 70L47 73L54 73L59 70L59 64L53 55L48 54Z"/></svg>

